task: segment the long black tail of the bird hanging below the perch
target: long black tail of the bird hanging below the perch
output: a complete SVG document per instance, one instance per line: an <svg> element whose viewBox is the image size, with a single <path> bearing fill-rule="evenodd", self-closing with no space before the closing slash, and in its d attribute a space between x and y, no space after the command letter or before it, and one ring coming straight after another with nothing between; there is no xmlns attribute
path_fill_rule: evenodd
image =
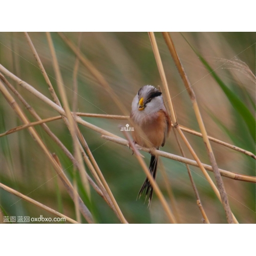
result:
<svg viewBox="0 0 256 256"><path fill-rule="evenodd" d="M154 179L156 179L156 175L157 175L157 161L158 161L158 158L156 156L151 156L151 160L150 160L150 173L151 175L153 176ZM139 191L139 194L138 194L138 197L140 198L140 196L142 194L145 194L146 198L147 196L149 195L148 197L148 206L150 206L151 204L151 200L152 200L152 196L153 196L153 187L150 183L150 181L146 178L140 191Z"/></svg>

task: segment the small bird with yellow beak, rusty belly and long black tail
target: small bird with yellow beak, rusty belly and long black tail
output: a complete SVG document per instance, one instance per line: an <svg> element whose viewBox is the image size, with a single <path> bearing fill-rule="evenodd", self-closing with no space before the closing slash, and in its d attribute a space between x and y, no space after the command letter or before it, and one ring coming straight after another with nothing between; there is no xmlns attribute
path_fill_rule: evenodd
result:
<svg viewBox="0 0 256 256"><path fill-rule="evenodd" d="M134 131L132 136L134 142L144 147L150 147L153 153L154 149L164 146L169 135L171 122L165 109L162 93L154 86L143 86L132 102L132 111L130 118L133 121ZM156 179L158 158L151 154L150 173ZM145 192L148 197L148 206L150 206L153 196L153 187L146 178L138 196Z"/></svg>

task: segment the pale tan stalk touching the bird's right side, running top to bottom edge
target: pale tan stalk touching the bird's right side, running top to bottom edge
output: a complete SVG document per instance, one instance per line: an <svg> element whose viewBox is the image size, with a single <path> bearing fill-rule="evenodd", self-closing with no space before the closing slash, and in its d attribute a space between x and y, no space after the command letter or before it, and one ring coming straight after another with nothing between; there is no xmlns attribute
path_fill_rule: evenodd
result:
<svg viewBox="0 0 256 256"><path fill-rule="evenodd" d="M168 108L167 109L169 109L169 111L171 113L170 118L171 118L171 120L174 123L174 127L177 129L177 131L179 132L181 138L184 140L186 146L188 147L188 150L190 151L190 153L193 155L193 157L197 161L197 163L198 163L200 169L202 170L203 174L205 175L206 179L210 183L212 189L215 191L215 194L217 195L219 200L221 202L223 202L222 197L220 196L219 190L215 186L214 182L212 182L210 176L207 174L207 172L204 169L201 161L197 157L195 151L190 146L188 140L186 139L186 137L184 136L183 132L181 131L181 129L180 129L179 125L178 125L178 121L177 121L177 118L176 118L176 113L175 113L175 110L174 110L174 105L173 105L173 102L172 102L172 97L170 96L170 92L169 92L169 89L168 89L168 84L167 84L167 80L166 80L166 77L165 77L165 73L164 73L164 69L163 69L163 65L162 65L162 60L161 60L160 53L159 53L159 50L158 50L155 34L154 34L154 32L148 32L148 35L149 35L150 40L151 40L152 49L153 49L153 52L154 52L154 55L155 55L155 59L156 59L157 66L158 66L158 70L159 70L160 77L161 77L161 80L162 80L162 83L163 83L163 88L164 88L164 91L165 91L165 95L166 95L166 97L168 99L168 101L167 101ZM216 166L214 166L213 168L216 169ZM223 191L222 191L221 195L223 195L223 194L225 194L225 193L223 193ZM237 222L236 218L231 213L230 208L228 209L227 206L228 206L228 201L224 201L223 207L224 207L225 212L226 212L228 223L232 223L233 221ZM233 218L231 218L231 217L233 217Z"/></svg>

